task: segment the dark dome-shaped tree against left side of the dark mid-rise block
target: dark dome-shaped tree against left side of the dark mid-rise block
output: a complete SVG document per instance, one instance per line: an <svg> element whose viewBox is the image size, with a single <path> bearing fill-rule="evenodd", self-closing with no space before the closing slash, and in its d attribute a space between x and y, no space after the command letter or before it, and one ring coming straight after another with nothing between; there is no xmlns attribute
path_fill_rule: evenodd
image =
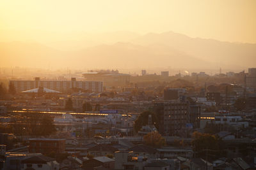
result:
<svg viewBox="0 0 256 170"><path fill-rule="evenodd" d="M159 122L158 122L158 119L156 117L156 114L152 113L151 111L144 111L135 120L134 129L135 129L136 132L138 132L143 125L148 124L148 115L152 115L152 124L154 124L157 129L159 128Z"/></svg>

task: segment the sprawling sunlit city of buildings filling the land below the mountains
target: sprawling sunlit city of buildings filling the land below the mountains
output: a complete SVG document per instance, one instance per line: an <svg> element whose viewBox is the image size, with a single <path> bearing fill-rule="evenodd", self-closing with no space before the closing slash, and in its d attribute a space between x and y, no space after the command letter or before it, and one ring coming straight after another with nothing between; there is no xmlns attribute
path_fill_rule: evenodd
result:
<svg viewBox="0 0 256 170"><path fill-rule="evenodd" d="M173 86L146 86L117 70L88 71L84 81L11 80L15 94L0 101L0 169L255 169L255 73L192 73L190 86L181 74ZM196 86L212 77L220 82ZM41 124L54 129L32 134ZM163 145L148 144L154 133Z"/></svg>

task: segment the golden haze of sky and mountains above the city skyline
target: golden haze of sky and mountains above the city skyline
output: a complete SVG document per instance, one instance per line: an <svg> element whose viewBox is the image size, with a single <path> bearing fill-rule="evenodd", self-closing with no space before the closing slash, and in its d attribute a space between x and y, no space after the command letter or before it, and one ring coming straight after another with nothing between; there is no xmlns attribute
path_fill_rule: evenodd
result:
<svg viewBox="0 0 256 170"><path fill-rule="evenodd" d="M256 63L255 6L255 1L2 1L0 66L247 69Z"/></svg>

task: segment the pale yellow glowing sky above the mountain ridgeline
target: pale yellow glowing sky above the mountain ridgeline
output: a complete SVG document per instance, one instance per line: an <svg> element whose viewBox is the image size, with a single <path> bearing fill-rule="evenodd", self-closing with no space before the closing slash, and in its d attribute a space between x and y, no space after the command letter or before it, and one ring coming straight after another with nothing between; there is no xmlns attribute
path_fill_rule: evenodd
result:
<svg viewBox="0 0 256 170"><path fill-rule="evenodd" d="M1 0L0 29L174 31L256 43L255 9L255 0Z"/></svg>

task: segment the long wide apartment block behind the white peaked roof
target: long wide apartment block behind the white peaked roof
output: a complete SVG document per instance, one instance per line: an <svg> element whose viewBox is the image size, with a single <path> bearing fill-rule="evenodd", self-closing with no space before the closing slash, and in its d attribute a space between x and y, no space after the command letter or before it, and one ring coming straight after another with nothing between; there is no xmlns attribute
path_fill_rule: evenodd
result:
<svg viewBox="0 0 256 170"><path fill-rule="evenodd" d="M76 78L72 78L71 81L61 80L40 80L35 78L33 80L10 80L17 92L24 90L35 89L38 87L44 87L51 90L57 90L63 92L67 89L78 88L88 90L89 92L103 92L102 81L76 81Z"/></svg>

